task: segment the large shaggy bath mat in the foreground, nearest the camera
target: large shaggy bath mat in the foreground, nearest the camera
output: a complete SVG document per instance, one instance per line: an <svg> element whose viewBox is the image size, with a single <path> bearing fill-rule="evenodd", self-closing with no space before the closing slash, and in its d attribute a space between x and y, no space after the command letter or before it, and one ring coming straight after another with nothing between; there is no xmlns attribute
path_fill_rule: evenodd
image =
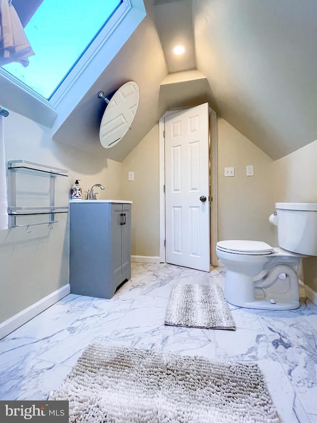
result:
<svg viewBox="0 0 317 423"><path fill-rule="evenodd" d="M49 399L69 400L69 422L78 423L279 422L256 364L102 343Z"/></svg>

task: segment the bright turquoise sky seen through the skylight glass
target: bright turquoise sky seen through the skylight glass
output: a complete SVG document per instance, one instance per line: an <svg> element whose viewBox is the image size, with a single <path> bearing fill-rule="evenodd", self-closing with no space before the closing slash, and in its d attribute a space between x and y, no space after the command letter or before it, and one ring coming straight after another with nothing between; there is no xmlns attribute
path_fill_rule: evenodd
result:
<svg viewBox="0 0 317 423"><path fill-rule="evenodd" d="M24 29L35 53L30 64L3 69L49 99L121 2L44 0Z"/></svg>

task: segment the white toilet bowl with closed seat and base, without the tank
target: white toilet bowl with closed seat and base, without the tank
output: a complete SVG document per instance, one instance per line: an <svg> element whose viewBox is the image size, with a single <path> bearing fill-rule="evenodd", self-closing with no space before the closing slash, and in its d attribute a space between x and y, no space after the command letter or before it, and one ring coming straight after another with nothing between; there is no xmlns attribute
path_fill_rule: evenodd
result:
<svg viewBox="0 0 317 423"><path fill-rule="evenodd" d="M226 266L224 297L239 307L293 310L299 307L297 270L302 255L260 241L220 241L217 256Z"/></svg>

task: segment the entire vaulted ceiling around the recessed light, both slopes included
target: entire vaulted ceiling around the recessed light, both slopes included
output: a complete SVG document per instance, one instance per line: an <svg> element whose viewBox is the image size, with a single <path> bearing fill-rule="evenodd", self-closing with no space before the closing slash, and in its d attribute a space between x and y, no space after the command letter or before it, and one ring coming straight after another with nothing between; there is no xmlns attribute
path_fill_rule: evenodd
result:
<svg viewBox="0 0 317 423"><path fill-rule="evenodd" d="M121 161L169 108L211 107L272 159L317 139L316 0L145 0L147 16L54 135ZM185 54L171 53L184 44ZM110 94L133 80L131 131L99 143Z"/></svg>

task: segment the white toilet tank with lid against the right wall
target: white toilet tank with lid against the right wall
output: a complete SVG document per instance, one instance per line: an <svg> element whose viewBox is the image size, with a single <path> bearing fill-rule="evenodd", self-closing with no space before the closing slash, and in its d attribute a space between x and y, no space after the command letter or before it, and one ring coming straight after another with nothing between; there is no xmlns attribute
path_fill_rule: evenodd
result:
<svg viewBox="0 0 317 423"><path fill-rule="evenodd" d="M275 203L278 245L293 253L317 256L317 204Z"/></svg>

